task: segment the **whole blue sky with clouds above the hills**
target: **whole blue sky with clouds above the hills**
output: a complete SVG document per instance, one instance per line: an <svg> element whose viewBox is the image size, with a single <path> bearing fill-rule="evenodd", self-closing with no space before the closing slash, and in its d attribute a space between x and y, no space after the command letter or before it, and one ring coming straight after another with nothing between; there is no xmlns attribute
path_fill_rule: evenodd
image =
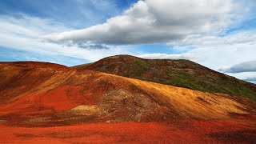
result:
<svg viewBox="0 0 256 144"><path fill-rule="evenodd" d="M256 83L254 0L0 0L0 61L190 59Z"/></svg>

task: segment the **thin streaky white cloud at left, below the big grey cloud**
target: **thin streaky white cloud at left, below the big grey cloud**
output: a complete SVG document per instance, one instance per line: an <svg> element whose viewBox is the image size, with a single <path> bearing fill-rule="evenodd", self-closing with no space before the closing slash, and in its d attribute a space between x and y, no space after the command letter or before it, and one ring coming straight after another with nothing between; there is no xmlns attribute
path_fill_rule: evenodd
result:
<svg viewBox="0 0 256 144"><path fill-rule="evenodd" d="M66 45L42 42L41 35L58 32L60 30L71 30L69 27L55 22L52 19L37 18L26 14L20 14L19 17L11 17L0 15L0 52L4 53L4 49L10 51L24 51L27 55L26 60L58 62L54 58L79 60L80 63L94 62L100 58L114 54L130 54L121 47L104 46L91 43L85 43L80 46ZM9 53L10 54L10 53ZM14 53L9 57L24 57ZM38 54L40 58L38 59ZM1 56L2 54L0 54ZM24 59L23 59L24 60ZM62 61L62 64L70 66L70 62Z"/></svg>

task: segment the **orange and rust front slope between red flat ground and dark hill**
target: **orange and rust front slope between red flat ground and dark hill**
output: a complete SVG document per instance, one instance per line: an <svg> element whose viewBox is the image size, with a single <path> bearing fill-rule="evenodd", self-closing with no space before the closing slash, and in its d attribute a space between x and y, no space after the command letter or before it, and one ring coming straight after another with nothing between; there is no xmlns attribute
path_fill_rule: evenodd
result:
<svg viewBox="0 0 256 144"><path fill-rule="evenodd" d="M246 98L42 62L1 63L0 79L0 120L7 122L222 119L255 110Z"/></svg>

